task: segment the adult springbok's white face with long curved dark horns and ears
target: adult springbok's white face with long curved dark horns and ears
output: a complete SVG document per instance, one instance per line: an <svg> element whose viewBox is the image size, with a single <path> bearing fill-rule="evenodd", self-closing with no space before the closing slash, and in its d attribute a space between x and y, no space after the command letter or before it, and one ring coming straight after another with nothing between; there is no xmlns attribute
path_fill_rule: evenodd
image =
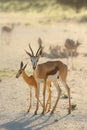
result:
<svg viewBox="0 0 87 130"><path fill-rule="evenodd" d="M32 67L33 67L33 69L35 70L36 67L37 67L37 63L38 63L38 61L39 61L39 58L40 58L40 56L41 56L41 54L42 54L42 48L41 48L41 47L38 48L38 50L37 50L37 52L36 52L36 55L34 55L33 50L32 50L32 48L31 48L30 44L29 44L29 48L30 48L32 54L30 54L30 53L27 52L26 50L25 50L25 52L30 56L31 63L32 63Z"/></svg>

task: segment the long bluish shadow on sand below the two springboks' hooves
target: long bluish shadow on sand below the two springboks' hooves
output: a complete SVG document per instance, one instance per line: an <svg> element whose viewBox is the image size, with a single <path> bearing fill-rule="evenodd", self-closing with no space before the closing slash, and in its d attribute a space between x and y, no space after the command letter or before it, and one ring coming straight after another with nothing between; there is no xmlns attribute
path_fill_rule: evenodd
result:
<svg viewBox="0 0 87 130"><path fill-rule="evenodd" d="M22 115L18 116L12 121L0 124L0 128L6 130L41 130L49 125L56 123L57 114L46 114L46 115ZM58 121L65 118L67 115L60 117Z"/></svg>

